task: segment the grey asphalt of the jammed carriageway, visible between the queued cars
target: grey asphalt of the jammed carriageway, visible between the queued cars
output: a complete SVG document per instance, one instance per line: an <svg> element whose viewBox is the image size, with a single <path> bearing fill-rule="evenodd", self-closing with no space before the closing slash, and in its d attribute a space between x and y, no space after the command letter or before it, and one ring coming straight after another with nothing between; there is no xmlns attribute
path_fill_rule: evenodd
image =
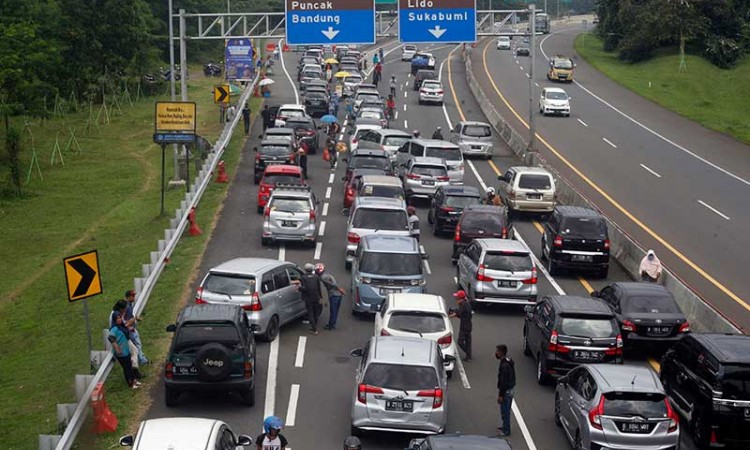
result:
<svg viewBox="0 0 750 450"><path fill-rule="evenodd" d="M396 48L395 43L385 46L386 51ZM449 128L449 123L461 119L486 120L471 96L465 83L463 63L459 51L453 46L432 48L438 61L446 86L446 104L419 106L415 91L411 90L411 78L407 76L409 65L400 61L400 51L386 56L383 79L395 74L399 82L398 118L395 125L406 130L419 129L431 134L436 126ZM285 53L283 58L288 69L296 67L298 55ZM447 59L451 58L451 59ZM290 67L291 66L291 67ZM277 67L271 104L293 103L294 86ZM383 93L387 83L381 84ZM256 122L253 136L260 134ZM262 247L260 244L261 216L256 213L257 187L252 182L253 154L251 140L243 149L237 176L232 180L227 199L219 217L195 284L212 266L235 257L268 257L293 261L325 262L342 286L349 283L349 273L344 267L345 216L342 208L343 167L330 170L320 155L310 158L310 183L319 198L324 201L321 220L325 231L318 237L318 246L313 249L293 245ZM477 187L494 184L496 168L502 169L517 163L499 140L495 142L496 156L491 164L486 161L467 163L465 181ZM419 207L422 222L422 244L430 255L426 264L427 289L440 294L455 306L451 294L455 291L453 278L455 268L450 262L451 240L435 237L427 228L426 205ZM322 224L321 224L322 225ZM539 224L533 220L520 220L516 224L519 238L524 239L534 252L539 254ZM586 280L576 276L560 276L554 279L540 268L540 295L570 294L588 295L591 289L599 289L609 282L625 280L624 273L616 266L610 270L608 280ZM192 298L185 299L191 303ZM152 392L153 403L148 418L192 416L212 417L227 421L236 431L257 435L263 418L270 414L286 422L283 433L289 439L288 448L334 449L349 433L350 406L354 390L354 372L357 360L348 357L351 349L362 346L372 335L373 322L369 318L356 318L350 314L351 299L347 295L339 316L339 327L335 331L321 331L313 336L308 326L298 322L281 329L272 343L258 344L257 403L255 407L243 406L233 395L190 394L183 396L176 408L167 408L163 401L163 386ZM323 320L327 312L323 313ZM454 324L457 327L458 324ZM554 450L568 448L560 428L554 425L551 386L539 386L535 381L536 363L523 356L523 313L517 307L485 307L474 315L474 360L463 363L456 376L449 382L448 431L465 434L492 435L498 425L496 404L497 361L494 358L496 344L505 343L516 361L518 385L514 403L513 433L510 441L514 449ZM456 328L457 329L457 328ZM646 358L630 359L634 364L648 364ZM652 361L653 363L653 361ZM365 449L403 449L409 436L400 434L373 433L363 438ZM693 448L685 440L683 448Z"/></svg>

